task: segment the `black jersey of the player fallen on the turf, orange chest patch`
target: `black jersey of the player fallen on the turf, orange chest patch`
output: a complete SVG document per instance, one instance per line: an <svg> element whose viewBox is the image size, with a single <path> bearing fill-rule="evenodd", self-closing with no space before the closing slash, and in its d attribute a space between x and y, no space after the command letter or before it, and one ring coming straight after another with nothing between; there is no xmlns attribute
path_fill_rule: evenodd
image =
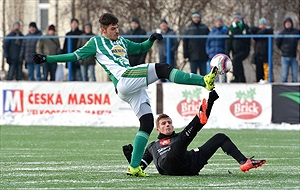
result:
<svg viewBox="0 0 300 190"><path fill-rule="evenodd" d="M195 171L192 166L195 158L193 150L185 151L185 154L180 157L174 154L174 151L180 148L181 133L173 132L169 136L159 134L158 139L147 146L142 165L147 167L153 160L158 172L162 175L197 175L199 170Z"/></svg>

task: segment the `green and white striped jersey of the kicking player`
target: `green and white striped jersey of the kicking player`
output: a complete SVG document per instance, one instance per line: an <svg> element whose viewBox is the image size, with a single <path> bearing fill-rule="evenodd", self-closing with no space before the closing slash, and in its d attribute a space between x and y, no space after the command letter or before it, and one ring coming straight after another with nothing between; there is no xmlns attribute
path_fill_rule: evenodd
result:
<svg viewBox="0 0 300 190"><path fill-rule="evenodd" d="M149 39L142 43L135 43L121 36L116 41L104 36L94 36L83 47L77 49L74 54L77 60L94 56L116 86L122 74L128 67L131 67L128 54L144 53L152 45L153 42Z"/></svg>

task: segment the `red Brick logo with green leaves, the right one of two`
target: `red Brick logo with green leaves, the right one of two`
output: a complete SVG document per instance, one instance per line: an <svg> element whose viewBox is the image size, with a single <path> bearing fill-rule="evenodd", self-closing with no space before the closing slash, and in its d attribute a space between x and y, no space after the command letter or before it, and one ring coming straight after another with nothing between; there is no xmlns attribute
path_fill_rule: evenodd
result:
<svg viewBox="0 0 300 190"><path fill-rule="evenodd" d="M246 92L236 92L237 101L230 105L230 112L239 119L254 119L262 113L262 106L254 100L256 94L254 88Z"/></svg>

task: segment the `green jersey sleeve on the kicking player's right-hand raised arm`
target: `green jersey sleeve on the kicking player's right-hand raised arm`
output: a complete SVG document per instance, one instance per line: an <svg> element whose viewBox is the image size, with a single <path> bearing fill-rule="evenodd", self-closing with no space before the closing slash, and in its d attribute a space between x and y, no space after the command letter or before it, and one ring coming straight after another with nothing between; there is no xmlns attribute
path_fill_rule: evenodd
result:
<svg viewBox="0 0 300 190"><path fill-rule="evenodd" d="M153 43L149 39L145 40L142 43L136 43L131 40L125 39L127 44L127 53L128 54L139 54L139 53L145 53L148 51L152 46Z"/></svg>

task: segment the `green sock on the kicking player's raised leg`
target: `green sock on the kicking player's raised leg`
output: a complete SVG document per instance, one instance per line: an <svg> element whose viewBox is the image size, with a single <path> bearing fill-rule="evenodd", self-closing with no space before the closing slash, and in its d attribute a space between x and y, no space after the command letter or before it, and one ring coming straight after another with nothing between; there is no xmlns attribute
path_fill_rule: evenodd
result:
<svg viewBox="0 0 300 190"><path fill-rule="evenodd" d="M203 76L172 69L169 80L177 84L199 85L205 87Z"/></svg>

